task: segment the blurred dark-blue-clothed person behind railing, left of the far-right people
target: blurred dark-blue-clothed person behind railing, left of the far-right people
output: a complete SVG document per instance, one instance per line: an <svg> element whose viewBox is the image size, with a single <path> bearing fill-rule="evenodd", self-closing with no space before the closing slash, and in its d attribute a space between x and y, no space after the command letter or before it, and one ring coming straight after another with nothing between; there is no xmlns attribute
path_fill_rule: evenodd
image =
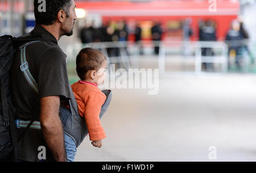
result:
<svg viewBox="0 0 256 173"><path fill-rule="evenodd" d="M207 20L205 23L200 23L199 27L199 40L200 41L216 41L216 29L212 20ZM202 48L202 56L214 56L212 48ZM205 70L213 70L212 63L203 63Z"/></svg>

